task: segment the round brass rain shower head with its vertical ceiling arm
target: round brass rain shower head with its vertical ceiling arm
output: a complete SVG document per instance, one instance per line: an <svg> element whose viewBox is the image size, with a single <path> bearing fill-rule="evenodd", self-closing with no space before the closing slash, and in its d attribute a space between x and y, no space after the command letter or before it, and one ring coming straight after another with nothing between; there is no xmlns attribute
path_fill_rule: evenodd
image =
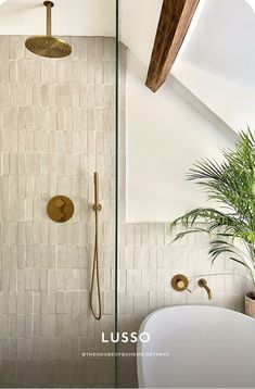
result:
<svg viewBox="0 0 255 389"><path fill-rule="evenodd" d="M47 35L34 36L26 39L25 46L34 54L47 58L63 58L72 53L69 43L51 35L51 9L54 7L52 1L44 1L47 8Z"/></svg>

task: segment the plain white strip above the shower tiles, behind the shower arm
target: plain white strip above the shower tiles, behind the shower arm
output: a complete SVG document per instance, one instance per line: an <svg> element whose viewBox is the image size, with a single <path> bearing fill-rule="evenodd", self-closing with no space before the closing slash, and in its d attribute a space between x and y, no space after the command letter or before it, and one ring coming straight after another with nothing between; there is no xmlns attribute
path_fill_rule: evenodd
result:
<svg viewBox="0 0 255 389"><path fill-rule="evenodd" d="M54 0L52 34L114 36L115 0ZM0 7L0 35L43 35L43 0L7 0Z"/></svg>

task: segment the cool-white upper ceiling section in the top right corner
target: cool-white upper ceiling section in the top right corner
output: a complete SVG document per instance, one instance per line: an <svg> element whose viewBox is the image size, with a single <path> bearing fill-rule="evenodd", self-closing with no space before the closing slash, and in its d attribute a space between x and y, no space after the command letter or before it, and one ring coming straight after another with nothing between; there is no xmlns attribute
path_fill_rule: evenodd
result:
<svg viewBox="0 0 255 389"><path fill-rule="evenodd" d="M206 1L184 62L246 88L255 87L255 0Z"/></svg>

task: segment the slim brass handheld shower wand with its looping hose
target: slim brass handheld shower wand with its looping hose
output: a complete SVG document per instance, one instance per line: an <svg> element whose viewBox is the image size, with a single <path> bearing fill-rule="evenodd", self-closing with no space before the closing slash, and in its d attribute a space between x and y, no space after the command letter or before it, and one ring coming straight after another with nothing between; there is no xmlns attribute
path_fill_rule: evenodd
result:
<svg viewBox="0 0 255 389"><path fill-rule="evenodd" d="M101 294L100 294L100 277L99 277L99 212L102 211L102 205L99 203L99 174L94 173L93 175L94 181L94 252L93 252L93 266L92 266L92 277L91 277L91 287L90 287L90 309L93 317L97 321L100 321L102 316L102 308L101 308ZM94 304L93 304L93 293L97 290L98 298L98 313L95 313Z"/></svg>

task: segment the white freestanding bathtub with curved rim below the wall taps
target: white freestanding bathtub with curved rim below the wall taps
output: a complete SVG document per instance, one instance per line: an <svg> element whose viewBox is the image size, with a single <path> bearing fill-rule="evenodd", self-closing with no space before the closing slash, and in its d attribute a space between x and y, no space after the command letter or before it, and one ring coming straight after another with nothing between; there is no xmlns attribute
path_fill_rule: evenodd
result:
<svg viewBox="0 0 255 389"><path fill-rule="evenodd" d="M150 341L138 341L140 388L255 388L251 317L217 306L178 305L149 315L142 332Z"/></svg>

